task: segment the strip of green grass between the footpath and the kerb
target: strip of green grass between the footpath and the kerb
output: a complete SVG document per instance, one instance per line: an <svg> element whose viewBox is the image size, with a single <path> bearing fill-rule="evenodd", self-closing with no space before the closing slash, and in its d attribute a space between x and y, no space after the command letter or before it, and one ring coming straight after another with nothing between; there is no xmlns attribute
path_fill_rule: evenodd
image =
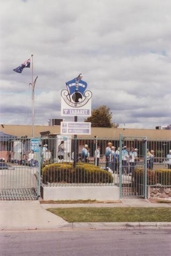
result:
<svg viewBox="0 0 171 256"><path fill-rule="evenodd" d="M50 211L68 222L156 222L171 221L171 208L51 208Z"/></svg>

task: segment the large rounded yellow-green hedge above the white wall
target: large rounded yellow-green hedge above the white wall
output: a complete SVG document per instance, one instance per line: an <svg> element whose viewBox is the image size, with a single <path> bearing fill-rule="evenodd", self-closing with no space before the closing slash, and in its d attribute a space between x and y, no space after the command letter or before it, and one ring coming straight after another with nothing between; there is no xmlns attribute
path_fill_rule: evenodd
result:
<svg viewBox="0 0 171 256"><path fill-rule="evenodd" d="M42 169L43 183L111 183L111 173L86 163L55 163Z"/></svg>

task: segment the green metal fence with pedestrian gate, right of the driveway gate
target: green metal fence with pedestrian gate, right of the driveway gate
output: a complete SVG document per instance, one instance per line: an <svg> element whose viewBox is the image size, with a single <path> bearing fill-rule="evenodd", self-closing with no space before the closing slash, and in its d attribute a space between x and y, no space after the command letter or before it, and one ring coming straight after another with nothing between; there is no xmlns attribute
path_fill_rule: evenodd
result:
<svg viewBox="0 0 171 256"><path fill-rule="evenodd" d="M161 186L171 185L170 179L165 182L165 177L170 177L168 170L171 162L170 140L123 137L119 147L118 138L76 139L55 135L54 137L42 137L42 142L44 146L42 151L42 182L44 186L119 186L121 184L122 187L125 187L123 195L132 193L136 196L142 194L140 182L142 184L145 182L147 186L156 186L157 183ZM62 154L60 152L61 142ZM106 152L108 143L111 143L109 156ZM125 160L122 159L124 158L124 147L127 151ZM98 148L99 154L96 154ZM134 151L137 152L135 162L131 158ZM122 159L120 161L120 177L122 177L120 180L119 155L122 156L120 158ZM131 192L128 193L128 191Z"/></svg>

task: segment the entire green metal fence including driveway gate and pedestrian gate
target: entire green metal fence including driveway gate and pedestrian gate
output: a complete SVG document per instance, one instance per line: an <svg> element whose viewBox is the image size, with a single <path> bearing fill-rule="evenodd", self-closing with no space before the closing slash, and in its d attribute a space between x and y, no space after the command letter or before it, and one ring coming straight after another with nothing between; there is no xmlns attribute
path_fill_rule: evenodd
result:
<svg viewBox="0 0 171 256"><path fill-rule="evenodd" d="M37 199L40 182L119 186L120 196L145 197L146 186L171 186L170 146L144 137L0 137L0 198Z"/></svg>

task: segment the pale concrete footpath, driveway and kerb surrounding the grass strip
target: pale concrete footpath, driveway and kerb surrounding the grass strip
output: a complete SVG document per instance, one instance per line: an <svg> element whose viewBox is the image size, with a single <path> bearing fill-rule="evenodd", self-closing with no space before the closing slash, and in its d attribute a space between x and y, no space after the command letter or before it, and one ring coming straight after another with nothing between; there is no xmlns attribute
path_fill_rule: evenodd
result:
<svg viewBox="0 0 171 256"><path fill-rule="evenodd" d="M171 228L171 222L68 223L45 209L52 207L171 207L145 199L121 199L120 203L40 204L39 201L0 201L0 231L6 230L112 230Z"/></svg>

